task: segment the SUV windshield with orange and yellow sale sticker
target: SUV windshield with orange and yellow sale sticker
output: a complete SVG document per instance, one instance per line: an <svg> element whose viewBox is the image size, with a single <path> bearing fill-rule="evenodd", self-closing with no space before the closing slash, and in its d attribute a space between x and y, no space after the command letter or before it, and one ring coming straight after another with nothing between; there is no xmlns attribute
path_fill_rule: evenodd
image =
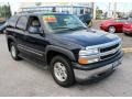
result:
<svg viewBox="0 0 132 99"><path fill-rule="evenodd" d="M53 33L87 29L76 15L72 14L45 14L42 18Z"/></svg>

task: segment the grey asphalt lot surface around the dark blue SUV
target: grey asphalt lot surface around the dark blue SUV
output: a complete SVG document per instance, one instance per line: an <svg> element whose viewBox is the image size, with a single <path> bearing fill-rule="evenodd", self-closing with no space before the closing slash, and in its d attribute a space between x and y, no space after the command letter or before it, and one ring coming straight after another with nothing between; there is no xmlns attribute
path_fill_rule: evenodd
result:
<svg viewBox="0 0 132 99"><path fill-rule="evenodd" d="M123 47L132 47L132 37L118 34ZM14 62L8 52L6 36L0 34L0 96L132 96L132 54L125 53L122 65L96 84L59 87L50 72L28 61Z"/></svg>

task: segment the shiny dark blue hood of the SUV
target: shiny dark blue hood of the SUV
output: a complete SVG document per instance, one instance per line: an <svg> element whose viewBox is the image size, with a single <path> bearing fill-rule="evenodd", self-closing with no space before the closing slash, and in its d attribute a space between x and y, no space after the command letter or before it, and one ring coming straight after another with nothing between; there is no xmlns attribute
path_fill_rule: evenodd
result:
<svg viewBox="0 0 132 99"><path fill-rule="evenodd" d="M72 33L57 34L61 41L86 46L99 45L116 41L118 35L96 30L82 30Z"/></svg>

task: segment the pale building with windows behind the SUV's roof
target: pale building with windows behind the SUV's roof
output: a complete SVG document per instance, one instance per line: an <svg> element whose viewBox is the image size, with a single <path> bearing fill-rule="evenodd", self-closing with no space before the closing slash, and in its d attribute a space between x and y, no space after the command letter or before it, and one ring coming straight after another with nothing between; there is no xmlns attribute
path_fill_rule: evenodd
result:
<svg viewBox="0 0 132 99"><path fill-rule="evenodd" d="M65 12L76 15L90 13L94 15L92 2L22 2L19 12L45 11Z"/></svg>

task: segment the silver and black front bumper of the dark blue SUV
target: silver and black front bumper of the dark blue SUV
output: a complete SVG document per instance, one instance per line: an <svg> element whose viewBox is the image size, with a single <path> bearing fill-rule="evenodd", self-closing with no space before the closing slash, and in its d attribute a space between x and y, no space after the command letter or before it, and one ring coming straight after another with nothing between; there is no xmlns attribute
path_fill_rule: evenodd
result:
<svg viewBox="0 0 132 99"><path fill-rule="evenodd" d="M90 79L91 77L98 76L102 73L108 73L110 70L114 70L122 62L122 53L110 59L110 61L105 61L101 63L97 63L95 65L88 65L88 66L80 66L74 65L74 74L76 80L87 80ZM96 67L95 67L96 66Z"/></svg>

